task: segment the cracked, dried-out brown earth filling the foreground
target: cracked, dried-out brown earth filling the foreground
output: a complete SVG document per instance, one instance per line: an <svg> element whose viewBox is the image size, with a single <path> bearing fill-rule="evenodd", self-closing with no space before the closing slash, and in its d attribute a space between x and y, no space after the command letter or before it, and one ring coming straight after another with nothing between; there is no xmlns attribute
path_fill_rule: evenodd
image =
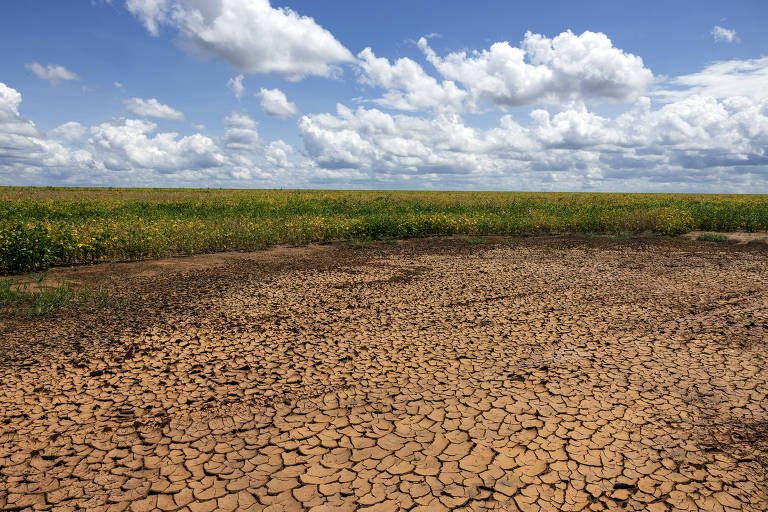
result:
<svg viewBox="0 0 768 512"><path fill-rule="evenodd" d="M768 510L768 246L442 239L59 269L5 510Z"/></svg>

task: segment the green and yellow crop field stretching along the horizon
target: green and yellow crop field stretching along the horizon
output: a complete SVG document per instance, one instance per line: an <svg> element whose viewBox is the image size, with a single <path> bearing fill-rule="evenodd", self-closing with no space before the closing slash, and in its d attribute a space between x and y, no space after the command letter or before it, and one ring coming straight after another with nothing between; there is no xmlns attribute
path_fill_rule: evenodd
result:
<svg viewBox="0 0 768 512"><path fill-rule="evenodd" d="M430 235L768 229L768 195L0 188L0 272Z"/></svg>

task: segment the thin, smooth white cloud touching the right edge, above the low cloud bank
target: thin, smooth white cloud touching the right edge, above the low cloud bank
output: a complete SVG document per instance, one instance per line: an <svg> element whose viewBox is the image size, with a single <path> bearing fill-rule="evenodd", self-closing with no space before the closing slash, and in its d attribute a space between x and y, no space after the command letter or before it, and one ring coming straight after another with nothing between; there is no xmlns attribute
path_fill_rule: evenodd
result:
<svg viewBox="0 0 768 512"><path fill-rule="evenodd" d="M693 94L729 98L768 98L768 57L718 61L698 73L682 75L662 84L654 92L661 100L672 101Z"/></svg>

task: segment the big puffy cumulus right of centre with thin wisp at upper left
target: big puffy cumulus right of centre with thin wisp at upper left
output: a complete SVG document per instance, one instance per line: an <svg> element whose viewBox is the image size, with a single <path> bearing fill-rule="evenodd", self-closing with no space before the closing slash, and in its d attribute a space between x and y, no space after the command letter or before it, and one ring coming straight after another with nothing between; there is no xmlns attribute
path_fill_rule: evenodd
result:
<svg viewBox="0 0 768 512"><path fill-rule="evenodd" d="M498 42L445 57L425 38L418 45L443 77L464 86L476 101L498 106L629 101L653 81L640 57L599 32L567 31L552 39L527 32L519 48Z"/></svg>

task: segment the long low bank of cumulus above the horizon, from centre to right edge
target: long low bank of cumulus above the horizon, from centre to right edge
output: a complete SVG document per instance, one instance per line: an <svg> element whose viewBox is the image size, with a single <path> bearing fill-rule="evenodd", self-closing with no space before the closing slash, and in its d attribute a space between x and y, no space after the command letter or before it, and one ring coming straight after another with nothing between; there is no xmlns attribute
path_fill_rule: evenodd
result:
<svg viewBox="0 0 768 512"><path fill-rule="evenodd" d="M343 105L299 121L321 168L462 188L747 191L768 185L768 100L690 96L653 110L640 98L607 118L580 108L510 115L480 130L456 115L424 119Z"/></svg>

